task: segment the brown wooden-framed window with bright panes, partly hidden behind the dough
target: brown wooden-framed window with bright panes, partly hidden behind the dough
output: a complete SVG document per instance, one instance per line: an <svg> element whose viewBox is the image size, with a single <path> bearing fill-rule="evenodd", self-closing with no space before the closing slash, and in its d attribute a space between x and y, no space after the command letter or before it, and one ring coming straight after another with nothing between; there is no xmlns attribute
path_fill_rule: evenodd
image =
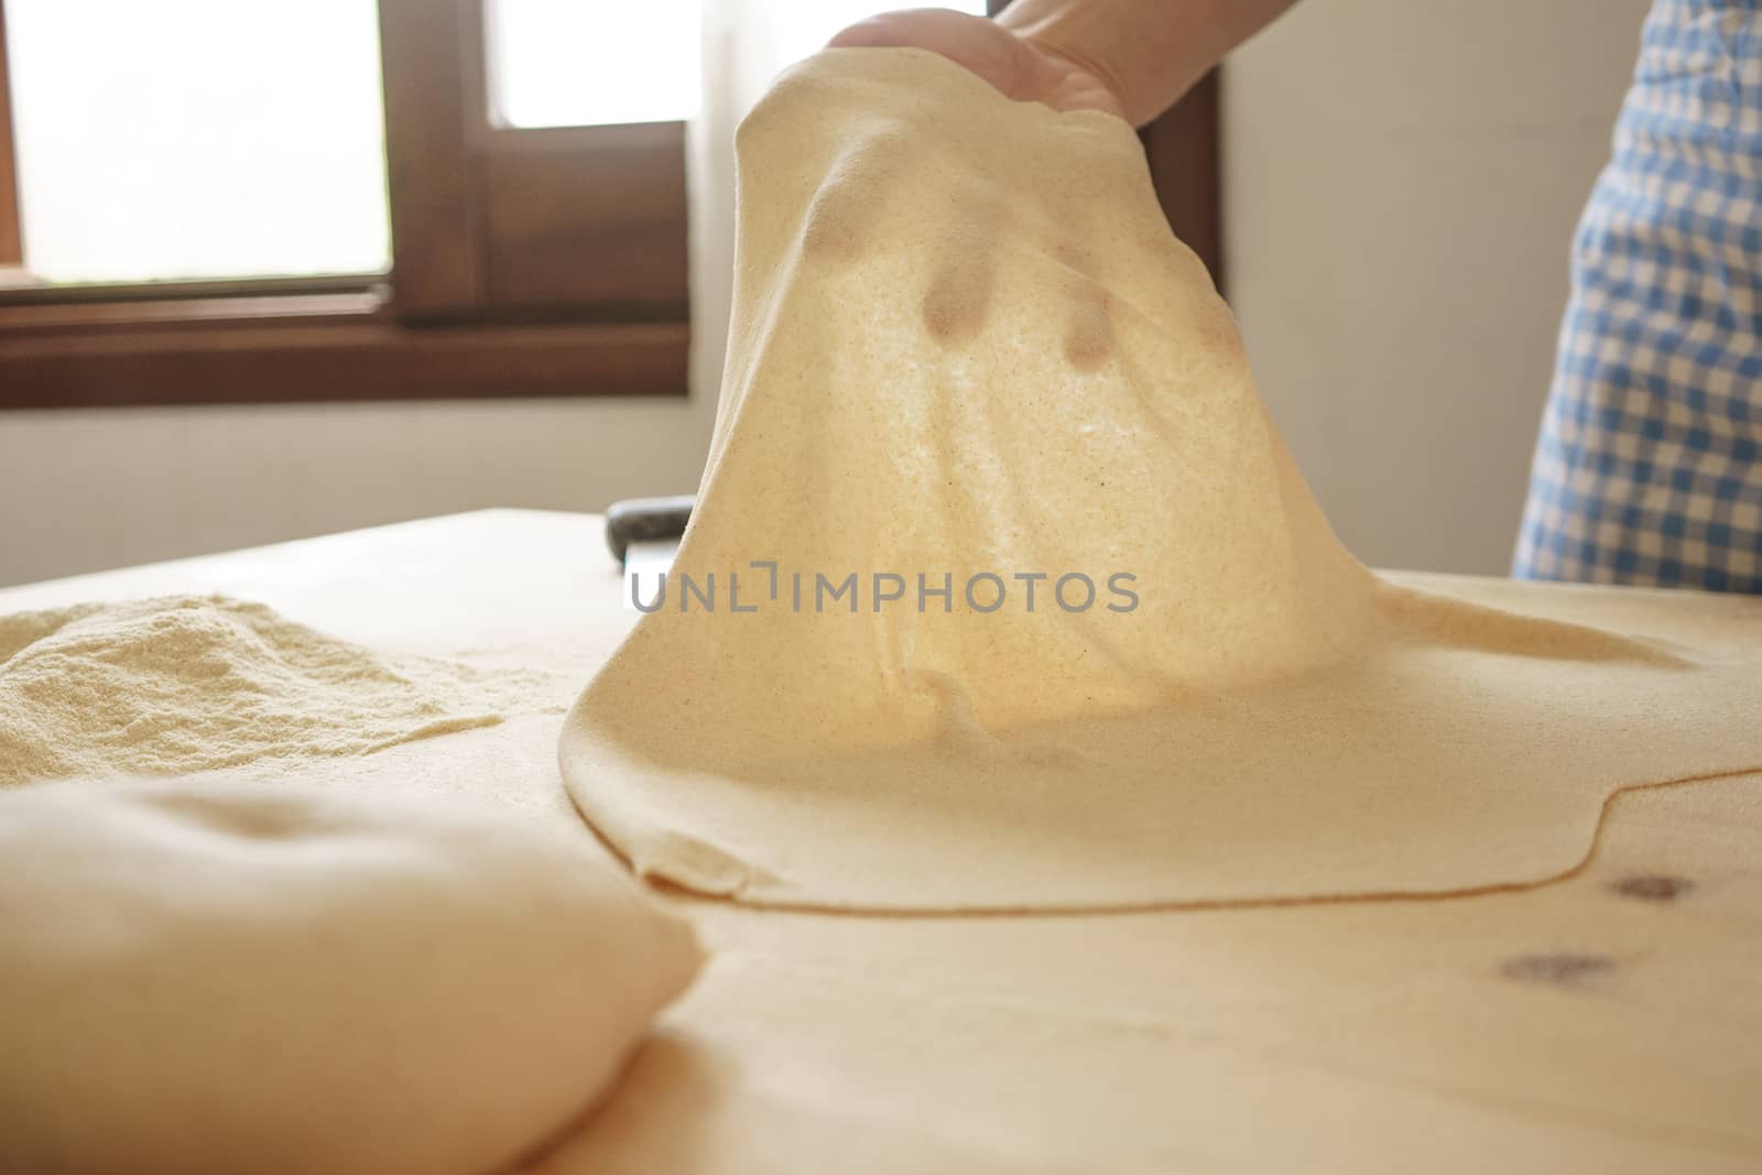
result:
<svg viewBox="0 0 1762 1175"><path fill-rule="evenodd" d="M0 0L0 409L684 395L696 14ZM1145 143L1216 273L1216 86Z"/></svg>

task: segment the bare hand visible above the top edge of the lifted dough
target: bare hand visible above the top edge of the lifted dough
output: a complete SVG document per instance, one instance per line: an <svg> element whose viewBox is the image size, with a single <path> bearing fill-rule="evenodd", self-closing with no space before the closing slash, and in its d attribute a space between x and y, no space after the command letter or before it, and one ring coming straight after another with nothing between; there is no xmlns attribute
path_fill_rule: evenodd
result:
<svg viewBox="0 0 1762 1175"><path fill-rule="evenodd" d="M1124 118L1119 88L1098 69L983 16L950 9L881 12L851 25L828 48L899 46L939 53L1018 102Z"/></svg>

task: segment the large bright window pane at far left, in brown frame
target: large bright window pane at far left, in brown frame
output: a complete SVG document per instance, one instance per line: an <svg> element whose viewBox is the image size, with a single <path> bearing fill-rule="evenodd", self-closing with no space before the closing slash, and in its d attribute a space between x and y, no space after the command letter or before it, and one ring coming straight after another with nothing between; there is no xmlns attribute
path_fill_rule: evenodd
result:
<svg viewBox="0 0 1762 1175"><path fill-rule="evenodd" d="M374 0L4 0L25 266L384 270Z"/></svg>

